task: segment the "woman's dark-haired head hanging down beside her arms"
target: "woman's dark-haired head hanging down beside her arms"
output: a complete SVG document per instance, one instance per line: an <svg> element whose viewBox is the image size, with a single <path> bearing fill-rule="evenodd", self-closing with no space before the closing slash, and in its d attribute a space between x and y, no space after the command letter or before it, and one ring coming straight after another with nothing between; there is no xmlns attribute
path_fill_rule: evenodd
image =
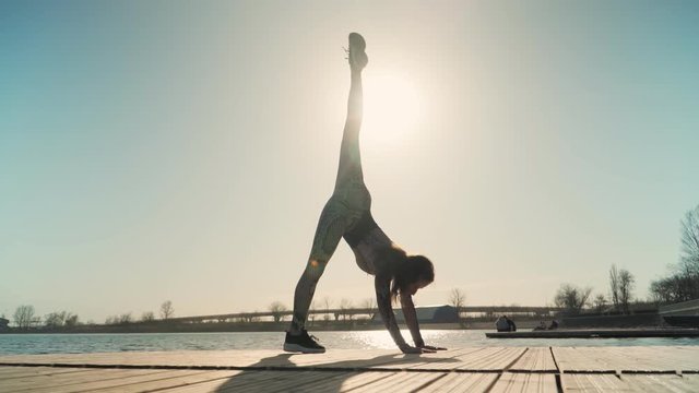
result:
<svg viewBox="0 0 699 393"><path fill-rule="evenodd" d="M415 295L417 289L424 288L435 281L435 266L424 255L406 255L395 264L391 297L399 295Z"/></svg>

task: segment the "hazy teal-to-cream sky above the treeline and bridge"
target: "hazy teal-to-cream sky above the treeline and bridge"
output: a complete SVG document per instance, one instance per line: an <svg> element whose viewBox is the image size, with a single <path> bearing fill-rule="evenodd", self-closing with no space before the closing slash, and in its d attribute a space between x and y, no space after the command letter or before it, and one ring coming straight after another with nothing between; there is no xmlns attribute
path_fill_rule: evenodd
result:
<svg viewBox="0 0 699 393"><path fill-rule="evenodd" d="M2 1L0 315L287 307L367 40L372 215L415 297L645 298L699 204L695 1ZM317 299L372 277L342 242Z"/></svg>

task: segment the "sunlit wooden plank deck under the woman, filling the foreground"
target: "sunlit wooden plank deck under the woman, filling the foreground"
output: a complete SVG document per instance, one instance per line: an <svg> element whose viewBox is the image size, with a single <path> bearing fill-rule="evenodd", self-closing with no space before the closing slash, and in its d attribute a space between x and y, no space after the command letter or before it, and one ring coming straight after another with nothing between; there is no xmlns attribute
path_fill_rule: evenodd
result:
<svg viewBox="0 0 699 393"><path fill-rule="evenodd" d="M0 392L699 392L699 346L0 356Z"/></svg>

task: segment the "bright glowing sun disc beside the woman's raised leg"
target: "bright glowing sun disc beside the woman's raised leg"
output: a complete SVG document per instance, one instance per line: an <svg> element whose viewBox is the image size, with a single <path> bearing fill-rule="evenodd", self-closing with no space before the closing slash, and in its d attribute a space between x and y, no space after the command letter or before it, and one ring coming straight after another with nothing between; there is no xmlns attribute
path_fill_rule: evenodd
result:
<svg viewBox="0 0 699 393"><path fill-rule="evenodd" d="M410 79L390 73L367 75L364 80L364 144L381 148L402 144L415 134L422 109L419 95Z"/></svg>

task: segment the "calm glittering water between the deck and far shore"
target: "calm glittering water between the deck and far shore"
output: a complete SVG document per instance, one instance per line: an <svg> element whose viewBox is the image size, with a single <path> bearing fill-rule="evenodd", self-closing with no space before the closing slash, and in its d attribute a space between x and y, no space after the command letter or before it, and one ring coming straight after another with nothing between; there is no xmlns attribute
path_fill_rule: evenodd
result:
<svg viewBox="0 0 699 393"><path fill-rule="evenodd" d="M486 338L485 330L423 331L425 342L465 346L639 346L699 345L699 338ZM392 349L386 331L316 332L329 349ZM407 331L404 337L410 337ZM80 354L125 350L281 349L284 333L0 334L0 354Z"/></svg>

